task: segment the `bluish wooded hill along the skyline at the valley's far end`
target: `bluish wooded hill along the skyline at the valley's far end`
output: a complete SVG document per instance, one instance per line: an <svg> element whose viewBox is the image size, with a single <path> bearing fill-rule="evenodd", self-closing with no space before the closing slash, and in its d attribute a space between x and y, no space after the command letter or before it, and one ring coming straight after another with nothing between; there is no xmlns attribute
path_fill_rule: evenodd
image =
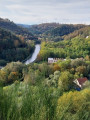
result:
<svg viewBox="0 0 90 120"><path fill-rule="evenodd" d="M33 34L40 35L44 34L47 36L63 36L74 32L75 30L79 30L84 28L86 25L82 24L59 24L59 23L43 23L39 25L31 25L28 26L28 30Z"/></svg>

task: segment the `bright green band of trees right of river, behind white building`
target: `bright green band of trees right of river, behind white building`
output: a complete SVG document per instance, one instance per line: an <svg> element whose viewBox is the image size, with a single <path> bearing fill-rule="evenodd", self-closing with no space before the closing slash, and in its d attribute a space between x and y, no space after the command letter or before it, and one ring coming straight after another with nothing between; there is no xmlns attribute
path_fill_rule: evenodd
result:
<svg viewBox="0 0 90 120"><path fill-rule="evenodd" d="M75 37L61 42L43 42L37 60L47 61L48 57L85 58L87 55L90 56L90 37Z"/></svg>

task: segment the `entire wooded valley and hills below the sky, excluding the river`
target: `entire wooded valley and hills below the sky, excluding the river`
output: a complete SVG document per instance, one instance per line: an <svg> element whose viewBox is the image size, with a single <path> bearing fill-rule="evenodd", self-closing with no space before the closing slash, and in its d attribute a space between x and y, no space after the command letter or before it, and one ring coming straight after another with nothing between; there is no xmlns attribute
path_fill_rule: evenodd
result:
<svg viewBox="0 0 90 120"><path fill-rule="evenodd" d="M22 60L36 43L25 38L30 29L41 50L26 65ZM0 69L0 120L90 120L90 26L45 23L24 29L0 19L0 65L6 65Z"/></svg>

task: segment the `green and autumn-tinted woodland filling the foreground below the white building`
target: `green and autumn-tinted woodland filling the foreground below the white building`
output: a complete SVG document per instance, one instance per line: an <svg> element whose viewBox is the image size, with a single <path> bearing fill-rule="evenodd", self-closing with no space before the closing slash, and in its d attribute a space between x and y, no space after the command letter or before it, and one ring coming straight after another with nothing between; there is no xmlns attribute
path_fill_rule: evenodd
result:
<svg viewBox="0 0 90 120"><path fill-rule="evenodd" d="M0 119L89 120L90 82L77 91L79 77L90 79L90 61L9 63L0 70Z"/></svg>

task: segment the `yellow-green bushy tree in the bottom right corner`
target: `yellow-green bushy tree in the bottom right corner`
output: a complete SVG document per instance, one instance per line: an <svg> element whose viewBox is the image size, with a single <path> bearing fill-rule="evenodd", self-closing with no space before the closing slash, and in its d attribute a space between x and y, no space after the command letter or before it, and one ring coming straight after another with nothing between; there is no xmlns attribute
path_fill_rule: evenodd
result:
<svg viewBox="0 0 90 120"><path fill-rule="evenodd" d="M58 99L57 120L89 120L90 118L90 90L64 93Z"/></svg>

